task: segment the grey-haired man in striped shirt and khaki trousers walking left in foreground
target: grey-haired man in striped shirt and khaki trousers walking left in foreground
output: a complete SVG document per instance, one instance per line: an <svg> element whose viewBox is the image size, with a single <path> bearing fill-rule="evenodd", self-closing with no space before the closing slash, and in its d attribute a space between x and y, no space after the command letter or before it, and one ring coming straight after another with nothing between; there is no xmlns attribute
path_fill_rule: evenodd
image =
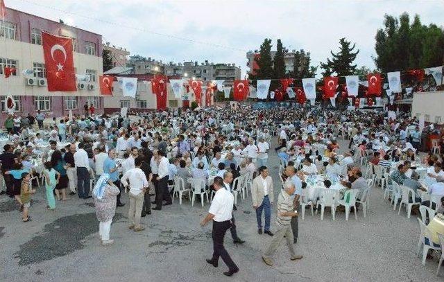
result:
<svg viewBox="0 0 444 282"><path fill-rule="evenodd" d="M285 236L287 240L287 246L289 247L290 259L291 261L298 260L302 258L301 255L296 255L293 247L293 233L291 232L291 218L298 216L298 213L294 211L293 200L291 200L291 195L296 191L293 182L287 182L284 187L284 191L281 191L278 197L278 217L276 224L278 225L278 231L273 236L271 244L266 249L264 255L262 255L262 260L266 265L273 265L273 261L270 256L278 249L282 239Z"/></svg>

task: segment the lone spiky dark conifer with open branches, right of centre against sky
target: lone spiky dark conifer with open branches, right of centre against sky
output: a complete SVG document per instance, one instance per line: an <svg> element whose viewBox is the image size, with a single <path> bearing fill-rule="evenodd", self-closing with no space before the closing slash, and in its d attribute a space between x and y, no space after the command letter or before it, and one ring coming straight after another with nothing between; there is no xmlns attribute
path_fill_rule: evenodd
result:
<svg viewBox="0 0 444 282"><path fill-rule="evenodd" d="M353 53L355 49L355 44L350 47L351 43L345 40L345 38L339 39L339 47L338 53L332 54L332 60L327 59L326 63L321 62L321 68L324 69L323 76L331 76L333 73L336 73L336 76L350 76L356 71L356 64L352 64L355 61L359 50Z"/></svg>

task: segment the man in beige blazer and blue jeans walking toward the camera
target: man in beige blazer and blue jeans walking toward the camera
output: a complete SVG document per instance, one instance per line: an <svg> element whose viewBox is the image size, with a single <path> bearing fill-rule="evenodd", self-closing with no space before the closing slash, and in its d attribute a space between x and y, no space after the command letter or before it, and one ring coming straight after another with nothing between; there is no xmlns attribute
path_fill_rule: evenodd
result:
<svg viewBox="0 0 444 282"><path fill-rule="evenodd" d="M266 166L259 167L259 175L253 179L251 199L256 210L257 233L262 234L262 210L265 213L264 233L273 236L270 231L271 204L273 204L273 179L268 175Z"/></svg>

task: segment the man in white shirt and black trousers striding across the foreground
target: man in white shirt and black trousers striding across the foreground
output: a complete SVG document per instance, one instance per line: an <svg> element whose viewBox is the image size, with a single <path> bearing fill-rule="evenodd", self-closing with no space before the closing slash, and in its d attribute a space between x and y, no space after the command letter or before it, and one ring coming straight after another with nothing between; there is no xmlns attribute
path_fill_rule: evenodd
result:
<svg viewBox="0 0 444 282"><path fill-rule="evenodd" d="M226 276L239 271L239 267L232 261L230 254L228 254L225 247L223 247L223 237L225 232L231 227L232 209L234 204L234 197L232 193L223 188L224 183L221 177L214 178L214 198L211 202L208 214L200 221L200 225L205 226L207 222L213 220L213 256L207 259L207 263L217 267L219 263L219 256L223 262L228 266L228 272L223 272Z"/></svg>

